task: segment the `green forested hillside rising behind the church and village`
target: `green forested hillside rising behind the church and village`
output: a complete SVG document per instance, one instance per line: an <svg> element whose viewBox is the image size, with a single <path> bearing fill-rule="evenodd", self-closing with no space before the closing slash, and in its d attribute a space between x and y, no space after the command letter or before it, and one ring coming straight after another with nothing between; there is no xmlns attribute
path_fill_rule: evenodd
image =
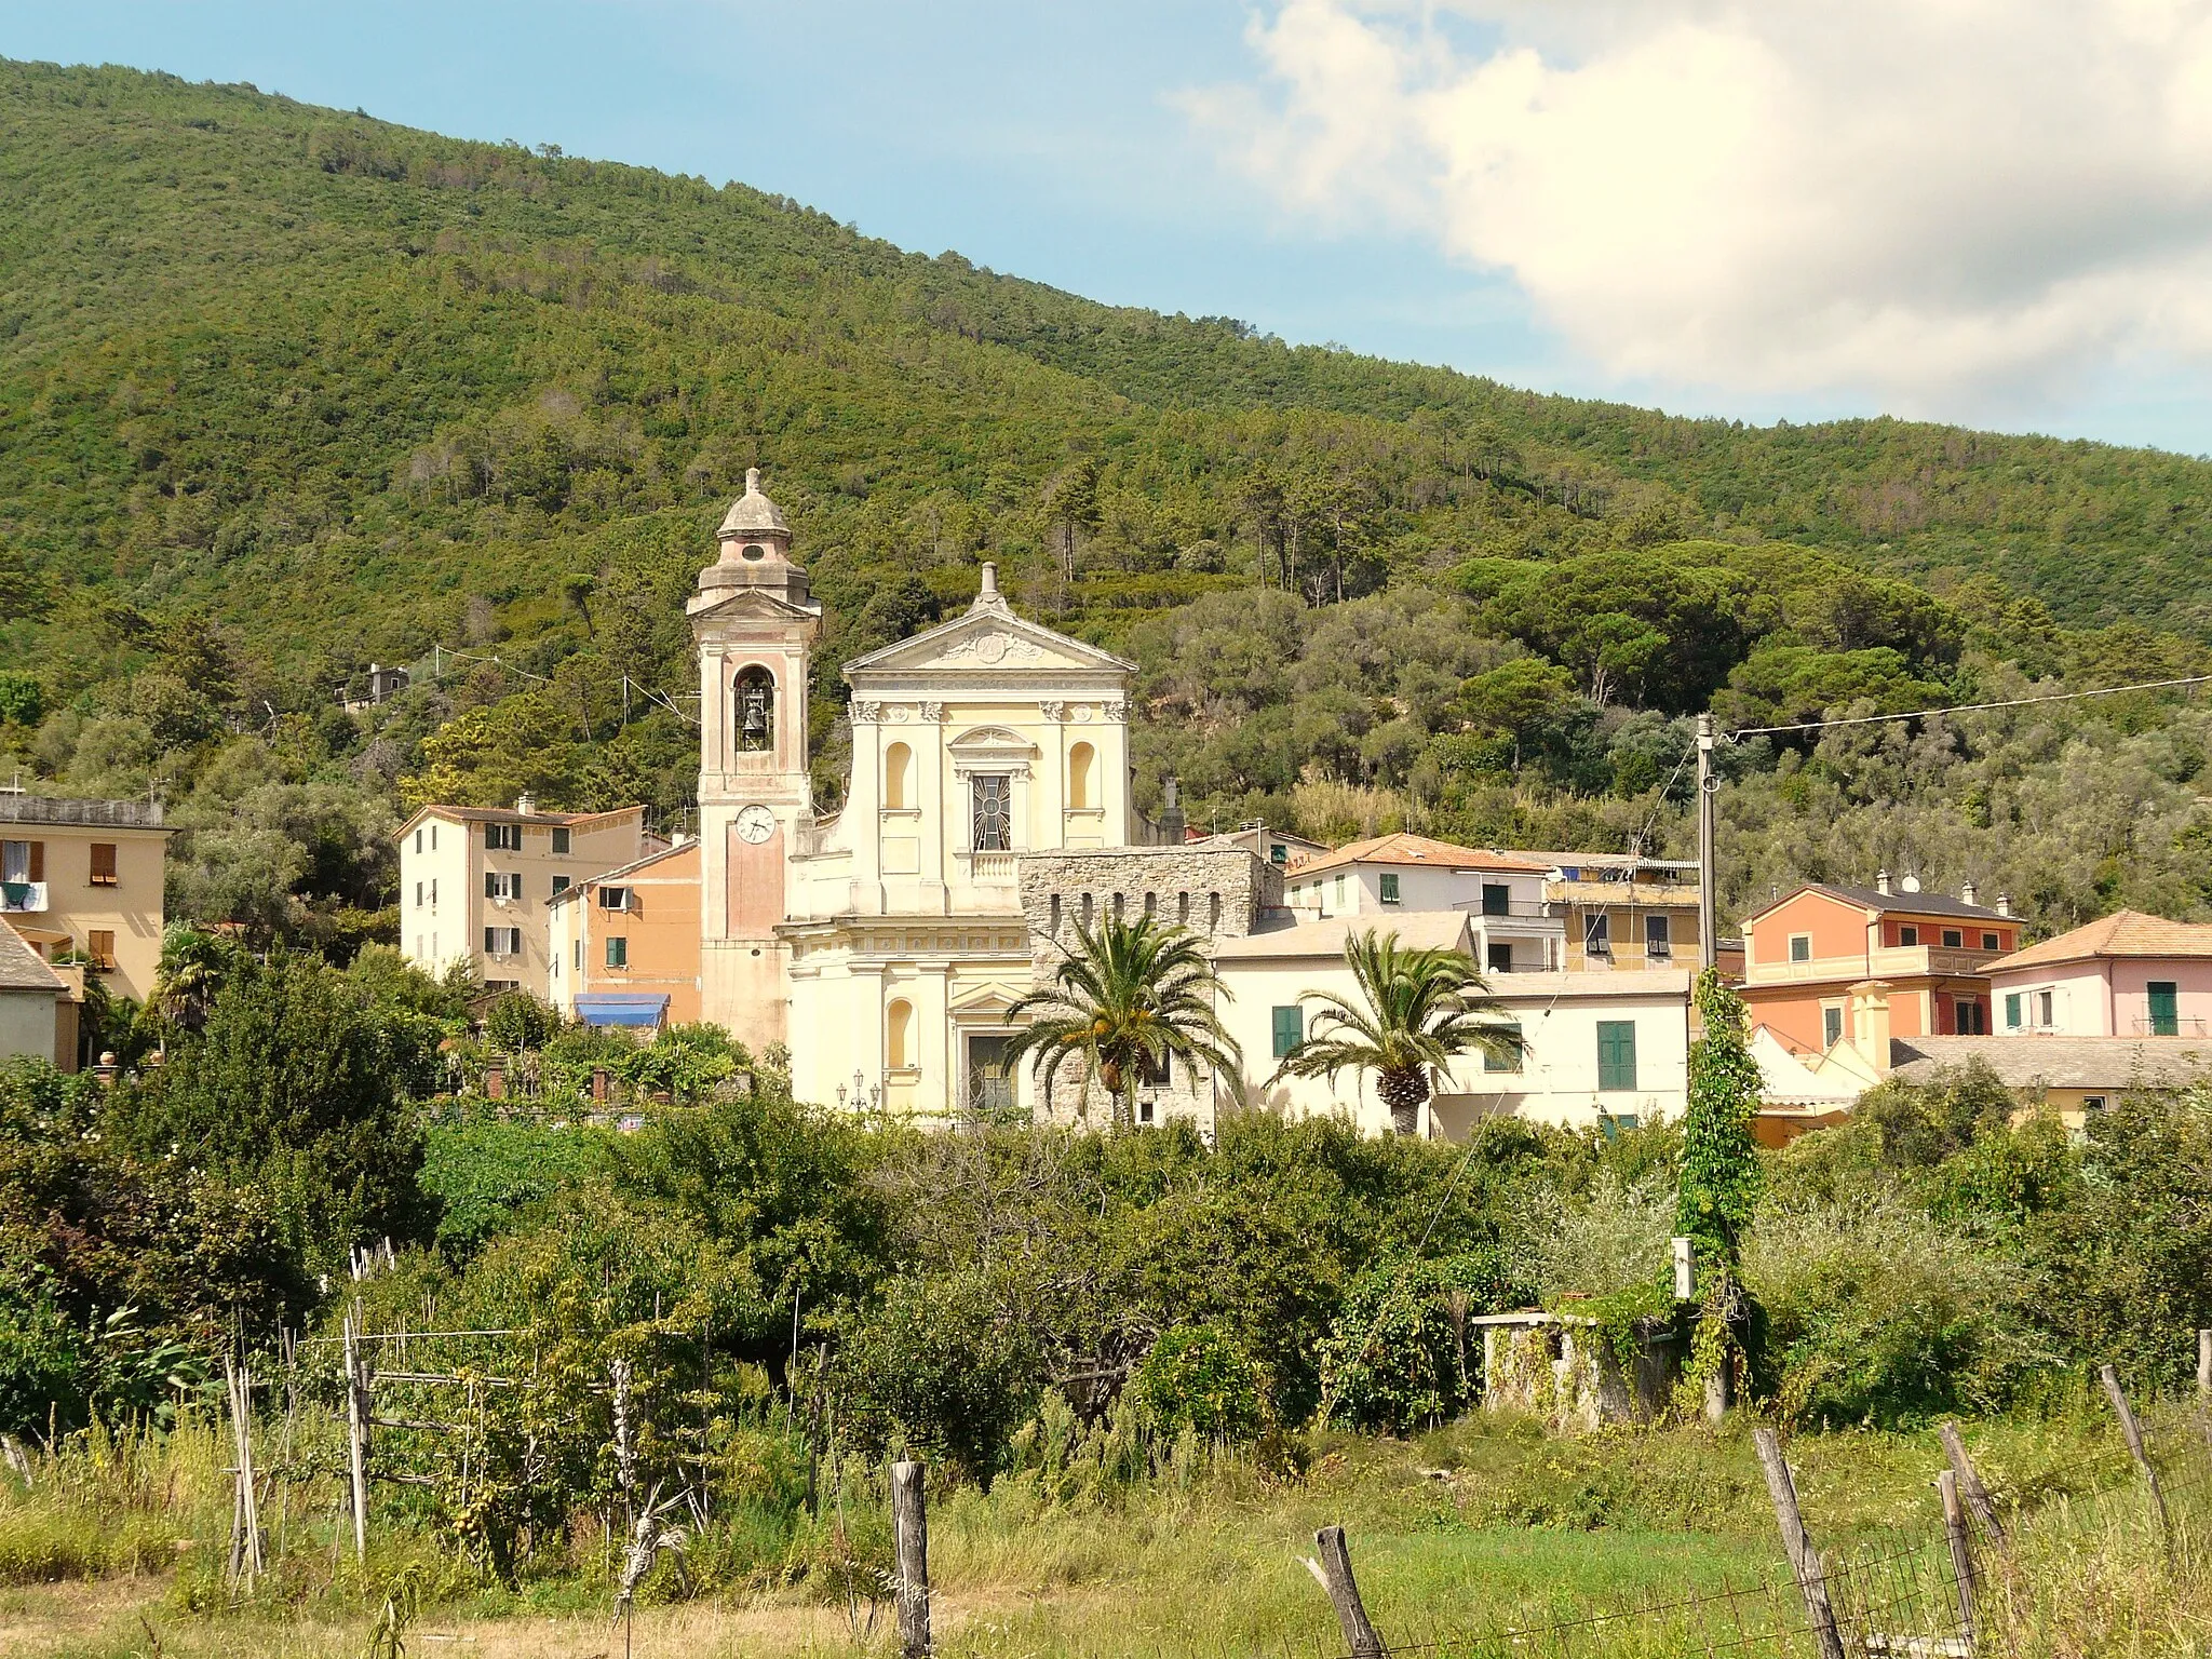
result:
<svg viewBox="0 0 2212 1659"><path fill-rule="evenodd" d="M161 792L181 914L325 945L383 927L411 799L679 821L681 595L748 465L830 606L825 799L836 664L980 557L1137 657L1144 801L1323 834L1668 845L1708 703L2208 661L2197 460L1546 398L131 71L0 64L0 770ZM1889 863L2197 914L2208 750L2174 699L1736 745L1728 894Z"/></svg>

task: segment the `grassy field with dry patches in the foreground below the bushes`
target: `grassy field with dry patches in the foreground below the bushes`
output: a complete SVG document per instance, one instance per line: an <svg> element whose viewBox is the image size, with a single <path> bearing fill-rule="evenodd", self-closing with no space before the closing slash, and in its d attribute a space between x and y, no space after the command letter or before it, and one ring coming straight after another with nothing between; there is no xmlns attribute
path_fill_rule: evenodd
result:
<svg viewBox="0 0 2212 1659"><path fill-rule="evenodd" d="M2177 1493L2212 1484L2212 1453L2190 1420L2159 1418L2152 1440ZM2101 1420L1973 1425L1969 1444L2002 1493L2042 1513L2081 1504L2079 1526L2022 1555L2015 1599L2033 1628L2011 1632L2017 1650L2212 1652L2203 1579L2163 1566L2141 1526L2112 1520L2132 1509L2115 1511L2110 1493L2132 1489ZM1823 1544L1927 1533L1940 1520L1933 1433L1803 1436L1790 1455ZM389 1515L356 1568L334 1533L330 1482L307 1489L312 1504L268 1515L281 1559L254 1597L230 1604L221 1462L215 1431L186 1422L159 1438L71 1442L35 1462L29 1491L0 1475L0 1655L336 1659L374 1652L394 1593L416 1601L400 1630L409 1655L624 1652L608 1579L588 1566L487 1586ZM2104 1506L2093 1493L2108 1495ZM880 1502L863 1478L843 1502L847 1542L865 1555L883 1533ZM801 1517L779 1531L754 1515L692 1540L695 1595L670 1599L681 1593L661 1568L630 1652L889 1650L891 1608L841 1595L821 1571L836 1533L836 1506L825 1511L818 1526ZM2188 1526L2199 1513L2188 1509ZM1329 1604L1303 1566L1314 1528L1329 1522L1349 1533L1376 1624L1407 1646L1677 1599L1781 1575L1783 1562L1743 1431L1562 1440L1486 1418L1416 1442L1329 1438L1303 1475L1270 1478L1248 1455L1186 1455L1104 1495L1055 1495L1035 1471L989 1493L938 1493L938 1646L1009 1659L1336 1652ZM2194 1562L2192 1540L2183 1553ZM593 1559L588 1537L571 1559ZM1630 1635L1606 1646L1641 1648Z"/></svg>

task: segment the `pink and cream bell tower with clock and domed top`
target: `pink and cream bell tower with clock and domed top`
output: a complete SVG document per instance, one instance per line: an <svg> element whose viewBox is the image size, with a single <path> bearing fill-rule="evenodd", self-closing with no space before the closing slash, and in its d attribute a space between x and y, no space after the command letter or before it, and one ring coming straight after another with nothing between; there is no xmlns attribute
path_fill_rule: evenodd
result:
<svg viewBox="0 0 2212 1659"><path fill-rule="evenodd" d="M699 1006L759 1053L790 1042L785 880L814 825L807 666L821 602L761 469L714 533L684 606L699 641Z"/></svg>

